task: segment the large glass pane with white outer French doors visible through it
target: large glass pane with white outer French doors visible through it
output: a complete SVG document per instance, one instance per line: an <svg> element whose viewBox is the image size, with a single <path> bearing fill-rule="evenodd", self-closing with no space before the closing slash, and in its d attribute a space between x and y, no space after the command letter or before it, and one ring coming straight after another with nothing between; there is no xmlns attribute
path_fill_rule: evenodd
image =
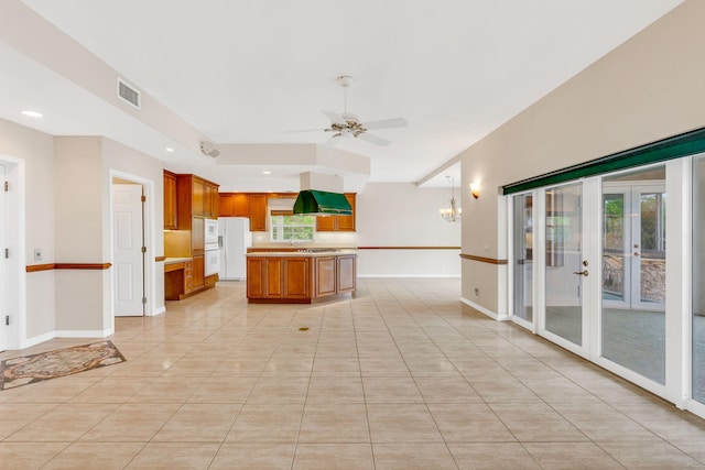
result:
<svg viewBox="0 0 705 470"><path fill-rule="evenodd" d="M665 167L603 181L601 357L665 383Z"/></svg>

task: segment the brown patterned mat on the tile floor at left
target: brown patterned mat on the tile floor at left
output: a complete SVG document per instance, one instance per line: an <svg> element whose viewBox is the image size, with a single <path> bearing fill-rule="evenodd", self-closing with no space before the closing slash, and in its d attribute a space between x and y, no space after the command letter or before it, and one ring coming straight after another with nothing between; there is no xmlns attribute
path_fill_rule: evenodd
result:
<svg viewBox="0 0 705 470"><path fill-rule="evenodd" d="M56 349L0 362L0 390L70 375L126 361L111 341Z"/></svg>

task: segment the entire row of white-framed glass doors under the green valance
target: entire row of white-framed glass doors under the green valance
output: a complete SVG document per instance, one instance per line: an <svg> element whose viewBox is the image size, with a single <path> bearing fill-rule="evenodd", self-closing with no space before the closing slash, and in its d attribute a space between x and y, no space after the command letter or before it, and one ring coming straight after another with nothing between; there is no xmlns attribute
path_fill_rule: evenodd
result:
<svg viewBox="0 0 705 470"><path fill-rule="evenodd" d="M510 206L511 319L705 417L705 153Z"/></svg>

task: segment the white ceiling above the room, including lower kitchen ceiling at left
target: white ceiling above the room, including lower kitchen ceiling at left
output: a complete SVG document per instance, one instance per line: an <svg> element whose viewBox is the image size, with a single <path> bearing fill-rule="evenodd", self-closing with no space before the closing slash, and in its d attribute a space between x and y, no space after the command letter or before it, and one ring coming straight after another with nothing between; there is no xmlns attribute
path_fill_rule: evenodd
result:
<svg viewBox="0 0 705 470"><path fill-rule="evenodd" d="M375 131L388 146L345 140L336 147L368 156L371 182L447 186L446 175L459 184L452 164L464 149L681 0L23 2L219 144L325 143L323 131L288 131L327 127L321 111L343 111L335 78L350 75L349 112L362 121L403 117L409 125ZM106 131L119 110L94 106L95 97L55 83L11 47L0 56L6 119L54 134L102 132L230 189L296 189L307 170L214 165L187 150L170 162L174 155L148 145L149 132ZM28 84L37 106L61 119L50 125L18 114L12 106L28 102L17 99ZM66 103L66 94L82 103Z"/></svg>

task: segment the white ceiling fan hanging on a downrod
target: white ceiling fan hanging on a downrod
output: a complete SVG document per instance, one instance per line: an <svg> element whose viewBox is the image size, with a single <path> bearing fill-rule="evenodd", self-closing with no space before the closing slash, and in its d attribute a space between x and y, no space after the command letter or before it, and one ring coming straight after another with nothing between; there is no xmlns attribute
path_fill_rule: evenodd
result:
<svg viewBox="0 0 705 470"><path fill-rule="evenodd" d="M378 135L368 133L370 129L403 128L406 120L403 118L382 119L380 121L360 122L357 116L348 112L348 87L352 83L352 77L341 75L336 78L338 85L344 89L343 112L323 111L330 119L330 127L325 132L333 132L326 145L335 145L337 138L359 138L376 145L389 145L391 142Z"/></svg>

